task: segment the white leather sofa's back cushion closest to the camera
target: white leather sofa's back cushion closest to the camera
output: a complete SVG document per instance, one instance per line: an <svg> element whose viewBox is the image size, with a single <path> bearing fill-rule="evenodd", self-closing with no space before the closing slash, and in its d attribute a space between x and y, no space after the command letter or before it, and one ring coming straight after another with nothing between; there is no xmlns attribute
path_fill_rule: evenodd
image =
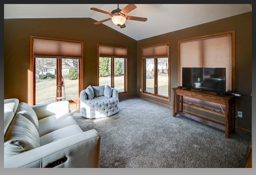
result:
<svg viewBox="0 0 256 175"><path fill-rule="evenodd" d="M21 114L16 114L4 136L4 157L40 147L35 125Z"/></svg>

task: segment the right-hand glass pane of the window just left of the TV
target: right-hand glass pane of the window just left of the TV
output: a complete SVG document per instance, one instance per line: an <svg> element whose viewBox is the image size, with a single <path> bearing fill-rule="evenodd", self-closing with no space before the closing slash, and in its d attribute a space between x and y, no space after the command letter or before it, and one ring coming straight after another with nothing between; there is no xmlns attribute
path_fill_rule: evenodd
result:
<svg viewBox="0 0 256 175"><path fill-rule="evenodd" d="M168 97L168 58L157 59L157 84L158 84L158 95Z"/></svg>

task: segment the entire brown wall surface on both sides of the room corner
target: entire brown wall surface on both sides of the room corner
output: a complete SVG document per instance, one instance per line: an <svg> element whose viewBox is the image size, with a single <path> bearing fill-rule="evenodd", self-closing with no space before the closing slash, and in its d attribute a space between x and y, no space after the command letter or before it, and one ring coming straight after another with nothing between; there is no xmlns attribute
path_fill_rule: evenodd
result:
<svg viewBox="0 0 256 175"><path fill-rule="evenodd" d="M141 94L141 47L170 42L173 88L178 86L178 40L235 30L236 93L242 94L236 97L236 111L243 112L242 118L236 118L236 126L252 130L252 12L139 41L93 22L91 18L4 19L4 98L28 102L29 38L34 35L84 42L84 87L97 83L97 43L128 46L129 94L122 98L138 95L172 106L172 89L170 101Z"/></svg>

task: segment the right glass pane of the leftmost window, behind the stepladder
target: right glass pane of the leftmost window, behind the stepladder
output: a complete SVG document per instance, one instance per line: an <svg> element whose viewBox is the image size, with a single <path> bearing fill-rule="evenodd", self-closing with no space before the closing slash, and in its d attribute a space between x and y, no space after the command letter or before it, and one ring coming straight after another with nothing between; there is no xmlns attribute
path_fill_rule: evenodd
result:
<svg viewBox="0 0 256 175"><path fill-rule="evenodd" d="M78 82L79 82L79 65L78 59L64 59L62 58L63 81L65 87L62 87L62 97L66 95L66 100L78 99ZM64 94L65 93L65 94Z"/></svg>

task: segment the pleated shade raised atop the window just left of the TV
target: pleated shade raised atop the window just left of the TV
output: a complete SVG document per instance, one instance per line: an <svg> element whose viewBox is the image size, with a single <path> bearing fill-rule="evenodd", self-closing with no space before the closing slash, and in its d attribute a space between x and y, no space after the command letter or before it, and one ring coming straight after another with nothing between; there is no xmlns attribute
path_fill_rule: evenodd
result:
<svg viewBox="0 0 256 175"><path fill-rule="evenodd" d="M168 58L168 45L158 45L143 48L143 58Z"/></svg>

